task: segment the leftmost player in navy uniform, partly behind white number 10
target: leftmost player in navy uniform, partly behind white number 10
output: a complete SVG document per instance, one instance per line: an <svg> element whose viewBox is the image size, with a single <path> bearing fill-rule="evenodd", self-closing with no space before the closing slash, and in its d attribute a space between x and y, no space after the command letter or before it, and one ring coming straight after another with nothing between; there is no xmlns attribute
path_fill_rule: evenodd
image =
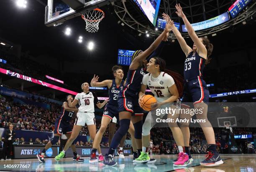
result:
<svg viewBox="0 0 256 172"><path fill-rule="evenodd" d="M73 96L69 95L67 96L67 101L68 100L73 101ZM72 116L77 113L78 109L76 108L69 108L68 102L64 101L62 104L62 109L61 109L61 115L55 120L55 129L54 129L54 137L50 139L51 142L48 142L44 149L36 155L38 158L39 162L44 163L44 157L45 157L45 152L47 149L49 149L52 145L56 144L59 141L59 137L61 134L65 134L67 138L71 136L72 129L70 126L70 121L72 120ZM84 159L81 158L77 154L75 143L73 142L72 145L70 146L73 150L73 160L74 161L84 161Z"/></svg>

